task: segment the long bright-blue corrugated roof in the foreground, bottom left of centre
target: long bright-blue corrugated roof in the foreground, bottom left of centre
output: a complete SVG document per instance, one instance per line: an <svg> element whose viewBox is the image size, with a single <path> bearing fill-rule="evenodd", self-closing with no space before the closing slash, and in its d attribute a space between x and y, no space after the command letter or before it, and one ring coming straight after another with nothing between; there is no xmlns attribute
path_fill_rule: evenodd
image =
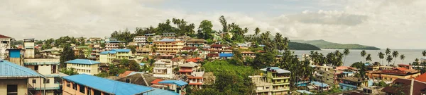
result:
<svg viewBox="0 0 426 95"><path fill-rule="evenodd" d="M70 82L75 82L77 84L84 85L86 87L91 87L99 91L104 91L109 94L115 95L133 95L141 94L144 91L150 91L148 94L174 94L177 93L172 91L164 91L162 89L153 89L151 87L145 87L136 84L129 84L126 82L119 82L115 80L109 80L102 77L96 77L92 75L80 74L64 77L65 80Z"/></svg>

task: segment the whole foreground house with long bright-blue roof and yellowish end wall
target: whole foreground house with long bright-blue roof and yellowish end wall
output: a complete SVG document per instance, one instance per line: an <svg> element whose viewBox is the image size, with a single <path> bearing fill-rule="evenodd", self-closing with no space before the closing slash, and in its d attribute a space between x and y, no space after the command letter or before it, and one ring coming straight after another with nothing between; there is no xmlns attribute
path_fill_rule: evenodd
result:
<svg viewBox="0 0 426 95"><path fill-rule="evenodd" d="M134 95L134 94L170 94L178 95L173 91L155 89L152 87L129 84L115 80L108 80L92 75L71 75L63 77L62 94L64 95Z"/></svg>

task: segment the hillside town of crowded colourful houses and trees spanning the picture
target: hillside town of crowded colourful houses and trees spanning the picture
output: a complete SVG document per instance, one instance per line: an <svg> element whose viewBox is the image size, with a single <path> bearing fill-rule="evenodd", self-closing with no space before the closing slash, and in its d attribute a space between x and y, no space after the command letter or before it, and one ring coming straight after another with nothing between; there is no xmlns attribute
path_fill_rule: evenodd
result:
<svg viewBox="0 0 426 95"><path fill-rule="evenodd" d="M249 83L245 83L253 92L244 94L426 94L423 68L426 58L410 64L386 65L368 61L368 54L365 63L343 66L339 65L342 58L338 56L334 57L336 61L321 61L331 58L329 55L322 58L322 54L312 51L292 58L283 49L280 50L284 53L271 55L268 45L219 42L223 35L213 34L214 39L207 41L164 32L137 35L131 42L114 37L66 37L65 42L60 42L13 39L0 34L0 92L8 95L185 95L203 91L218 94L208 89L235 81L235 77L223 73L238 73L239 70L232 69L251 65L251 75L242 77L248 79ZM22 43L13 46L17 40ZM349 49L344 52L349 53ZM256 64L256 60L261 64ZM290 63L280 64L283 62ZM241 66L212 69L211 65L229 63ZM300 64L291 65L297 63Z"/></svg>

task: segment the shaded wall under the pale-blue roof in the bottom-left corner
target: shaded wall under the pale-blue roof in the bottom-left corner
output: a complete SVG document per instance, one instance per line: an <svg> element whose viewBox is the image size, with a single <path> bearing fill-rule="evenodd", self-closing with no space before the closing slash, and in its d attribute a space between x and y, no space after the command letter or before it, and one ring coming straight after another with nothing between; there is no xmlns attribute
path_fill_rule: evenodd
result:
<svg viewBox="0 0 426 95"><path fill-rule="evenodd" d="M7 94L7 84L18 85L18 95L25 95L28 92L27 79L0 79L0 95Z"/></svg>

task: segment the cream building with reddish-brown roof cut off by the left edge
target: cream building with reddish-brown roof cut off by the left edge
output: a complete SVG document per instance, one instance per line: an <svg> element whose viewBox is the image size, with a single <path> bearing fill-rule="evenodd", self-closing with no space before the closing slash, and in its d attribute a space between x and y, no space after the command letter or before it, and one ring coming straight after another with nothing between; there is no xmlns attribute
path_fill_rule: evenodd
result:
<svg viewBox="0 0 426 95"><path fill-rule="evenodd" d="M11 37L7 37L5 35L0 34L0 59L4 59L7 57L8 52L6 49L11 48Z"/></svg>

